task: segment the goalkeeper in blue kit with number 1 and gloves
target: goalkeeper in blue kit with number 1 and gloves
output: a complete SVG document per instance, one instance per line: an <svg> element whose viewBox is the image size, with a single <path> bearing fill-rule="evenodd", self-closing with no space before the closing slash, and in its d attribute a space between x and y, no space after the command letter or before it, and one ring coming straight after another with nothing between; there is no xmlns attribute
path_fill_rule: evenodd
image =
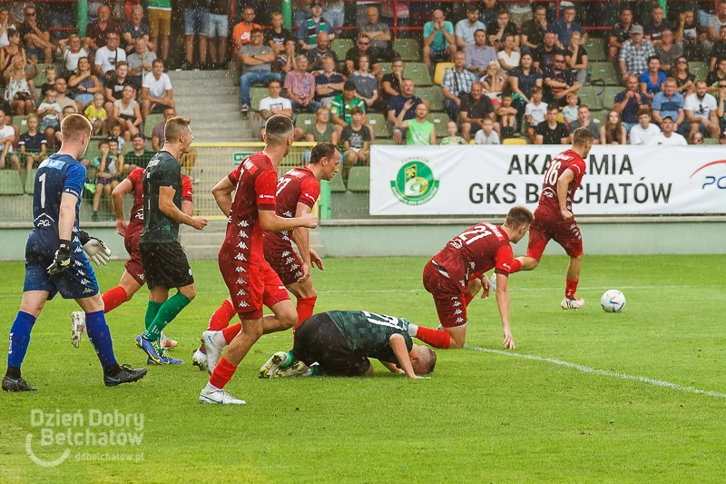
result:
<svg viewBox="0 0 726 484"><path fill-rule="evenodd" d="M141 380L146 374L145 368L119 366L116 361L98 283L81 245L78 211L85 167L78 158L85 153L92 129L83 116L66 116L61 123L61 149L45 159L35 173L33 231L25 245L23 300L10 329L7 371L2 384L5 391L37 390L23 379L20 367L35 321L45 302L58 292L64 299L74 299L85 312L88 339L101 361L106 386ZM95 247L98 249L98 245ZM104 255L107 257L108 253Z"/></svg>

